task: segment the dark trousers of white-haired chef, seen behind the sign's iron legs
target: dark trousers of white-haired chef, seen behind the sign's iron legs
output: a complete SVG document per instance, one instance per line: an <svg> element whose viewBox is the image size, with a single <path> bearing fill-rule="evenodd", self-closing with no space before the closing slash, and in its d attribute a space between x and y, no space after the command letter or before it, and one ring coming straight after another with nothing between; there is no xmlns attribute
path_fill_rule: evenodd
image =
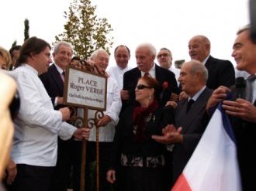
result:
<svg viewBox="0 0 256 191"><path fill-rule="evenodd" d="M111 184L106 181L106 172L109 165L109 151L112 146L112 142L99 142L99 190L109 191L111 190ZM80 149L80 151L79 151ZM74 176L74 191L80 191L80 174L81 174L81 142L76 145L77 162L73 165ZM85 190L96 190L96 143L87 142L86 149L86 166L85 166Z"/></svg>

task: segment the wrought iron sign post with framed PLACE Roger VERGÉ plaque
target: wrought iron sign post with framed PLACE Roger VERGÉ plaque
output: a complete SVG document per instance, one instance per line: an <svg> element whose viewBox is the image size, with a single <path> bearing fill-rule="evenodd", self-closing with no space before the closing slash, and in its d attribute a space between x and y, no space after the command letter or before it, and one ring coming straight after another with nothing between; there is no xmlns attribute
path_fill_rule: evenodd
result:
<svg viewBox="0 0 256 191"><path fill-rule="evenodd" d="M81 61L83 68L68 67L64 85L64 104L71 108L71 123L77 128L96 128L96 187L99 191L99 126L98 121L106 111L107 77L96 66ZM78 116L78 109L83 115ZM88 119L88 109L95 110ZM81 143L80 190L85 190L86 141Z"/></svg>

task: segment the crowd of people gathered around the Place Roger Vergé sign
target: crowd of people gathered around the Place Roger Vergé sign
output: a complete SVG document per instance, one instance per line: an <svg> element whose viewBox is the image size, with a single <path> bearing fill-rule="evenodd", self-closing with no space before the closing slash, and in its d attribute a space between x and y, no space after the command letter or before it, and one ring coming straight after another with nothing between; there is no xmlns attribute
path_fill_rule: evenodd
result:
<svg viewBox="0 0 256 191"><path fill-rule="evenodd" d="M171 190L220 102L234 128L243 190L254 190L256 159L249 151L256 144L256 43L250 29L245 26L237 32L232 52L237 70L248 76L245 97L235 94L233 64L210 54L206 36L189 40L191 60L181 69L172 64L170 49L157 52L150 43L135 49L135 68L129 66L130 49L125 45L114 50L113 67L108 67L105 49L92 53L86 63L96 67L108 84L106 111L97 121L99 190ZM66 191L69 182L74 191L83 189L81 140L86 140L84 189L95 190L95 127L75 127L64 104L67 67L83 70L85 62L74 56L70 43L58 42L53 60L50 49L37 37L9 51L0 47L0 72L10 70L5 73L17 85L11 97L16 106L10 107L15 131L2 183L10 191ZM78 115L83 112L78 108ZM88 118L95 112L89 109Z"/></svg>

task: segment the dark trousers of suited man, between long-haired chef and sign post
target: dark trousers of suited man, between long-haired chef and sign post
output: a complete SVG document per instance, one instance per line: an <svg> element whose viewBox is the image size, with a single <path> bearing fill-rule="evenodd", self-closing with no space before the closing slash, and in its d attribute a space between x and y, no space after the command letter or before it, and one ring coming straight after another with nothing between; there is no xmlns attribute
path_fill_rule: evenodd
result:
<svg viewBox="0 0 256 191"><path fill-rule="evenodd" d="M67 183L71 174L74 140L64 141L58 138L57 164L50 182L50 191L67 191Z"/></svg>

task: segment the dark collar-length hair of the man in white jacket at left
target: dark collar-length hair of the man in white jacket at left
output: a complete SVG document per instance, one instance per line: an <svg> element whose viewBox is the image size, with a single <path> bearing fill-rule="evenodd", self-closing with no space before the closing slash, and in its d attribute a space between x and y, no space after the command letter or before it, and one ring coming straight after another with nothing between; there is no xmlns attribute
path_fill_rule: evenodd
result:
<svg viewBox="0 0 256 191"><path fill-rule="evenodd" d="M29 39L26 39L25 43L19 49L19 58L16 63L16 67L26 63L27 58L31 56L31 53L39 54L47 47L50 48L50 44L43 39L38 39L36 36L33 36Z"/></svg>

